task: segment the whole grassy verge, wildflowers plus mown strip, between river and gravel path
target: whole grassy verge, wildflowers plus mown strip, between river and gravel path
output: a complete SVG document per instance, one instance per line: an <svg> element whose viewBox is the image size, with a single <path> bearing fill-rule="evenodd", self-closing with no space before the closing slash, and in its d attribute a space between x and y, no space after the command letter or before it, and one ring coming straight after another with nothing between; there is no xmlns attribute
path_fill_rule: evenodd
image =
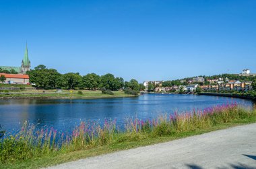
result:
<svg viewBox="0 0 256 169"><path fill-rule="evenodd" d="M127 119L123 130L117 129L116 121L104 125L87 121L64 135L26 123L16 135L1 141L0 164L1 168L40 168L255 122L255 108L226 104L146 121Z"/></svg>

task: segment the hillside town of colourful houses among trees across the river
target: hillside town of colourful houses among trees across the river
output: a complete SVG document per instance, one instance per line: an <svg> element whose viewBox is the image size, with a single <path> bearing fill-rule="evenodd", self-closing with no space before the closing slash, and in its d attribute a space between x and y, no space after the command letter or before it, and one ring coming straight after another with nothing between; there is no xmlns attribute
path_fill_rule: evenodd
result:
<svg viewBox="0 0 256 169"><path fill-rule="evenodd" d="M236 77L256 77L256 73L251 73L249 69L244 69L240 74L233 74ZM252 90L253 81L241 81L239 79L228 79L220 77L216 79L207 79L207 77L198 76L187 79L181 79L178 82L181 85L164 85L166 81L143 81L144 91L148 92L195 92L200 88L203 92L216 91L237 91L247 92ZM186 85L185 85L186 84ZM150 87L151 86L151 87Z"/></svg>

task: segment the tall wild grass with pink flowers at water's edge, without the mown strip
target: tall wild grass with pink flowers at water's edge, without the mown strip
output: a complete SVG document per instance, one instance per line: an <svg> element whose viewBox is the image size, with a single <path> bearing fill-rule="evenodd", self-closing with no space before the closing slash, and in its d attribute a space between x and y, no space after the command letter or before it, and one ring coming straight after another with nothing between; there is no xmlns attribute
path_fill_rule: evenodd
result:
<svg viewBox="0 0 256 169"><path fill-rule="evenodd" d="M255 108L241 108L237 104L223 104L204 110L163 114L156 119L127 119L118 129L116 121L100 123L82 121L71 133L55 129L37 129L25 122L16 134L7 134L0 140L0 163L12 163L41 156L62 154L102 145L139 141L152 137L174 135L216 125L243 121L256 116Z"/></svg>

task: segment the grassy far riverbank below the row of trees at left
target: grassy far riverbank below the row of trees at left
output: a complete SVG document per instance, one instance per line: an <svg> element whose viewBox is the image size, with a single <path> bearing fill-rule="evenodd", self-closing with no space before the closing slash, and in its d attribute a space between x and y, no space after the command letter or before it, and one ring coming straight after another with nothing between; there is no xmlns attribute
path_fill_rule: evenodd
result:
<svg viewBox="0 0 256 169"><path fill-rule="evenodd" d="M96 99L96 98L125 98L135 97L123 91L113 91L113 95L102 94L101 91L91 90L26 90L21 92L1 92L0 99Z"/></svg>

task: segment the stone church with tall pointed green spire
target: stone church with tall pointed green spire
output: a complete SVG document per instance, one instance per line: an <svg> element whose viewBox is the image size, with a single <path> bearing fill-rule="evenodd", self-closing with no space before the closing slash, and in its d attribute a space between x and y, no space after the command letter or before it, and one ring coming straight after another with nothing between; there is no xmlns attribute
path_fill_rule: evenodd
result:
<svg viewBox="0 0 256 169"><path fill-rule="evenodd" d="M26 74L27 71L30 71L30 59L28 59L28 46L26 44L24 58L22 60L21 67L11 67L11 66L0 66L0 69L11 71L17 71L19 74Z"/></svg>

